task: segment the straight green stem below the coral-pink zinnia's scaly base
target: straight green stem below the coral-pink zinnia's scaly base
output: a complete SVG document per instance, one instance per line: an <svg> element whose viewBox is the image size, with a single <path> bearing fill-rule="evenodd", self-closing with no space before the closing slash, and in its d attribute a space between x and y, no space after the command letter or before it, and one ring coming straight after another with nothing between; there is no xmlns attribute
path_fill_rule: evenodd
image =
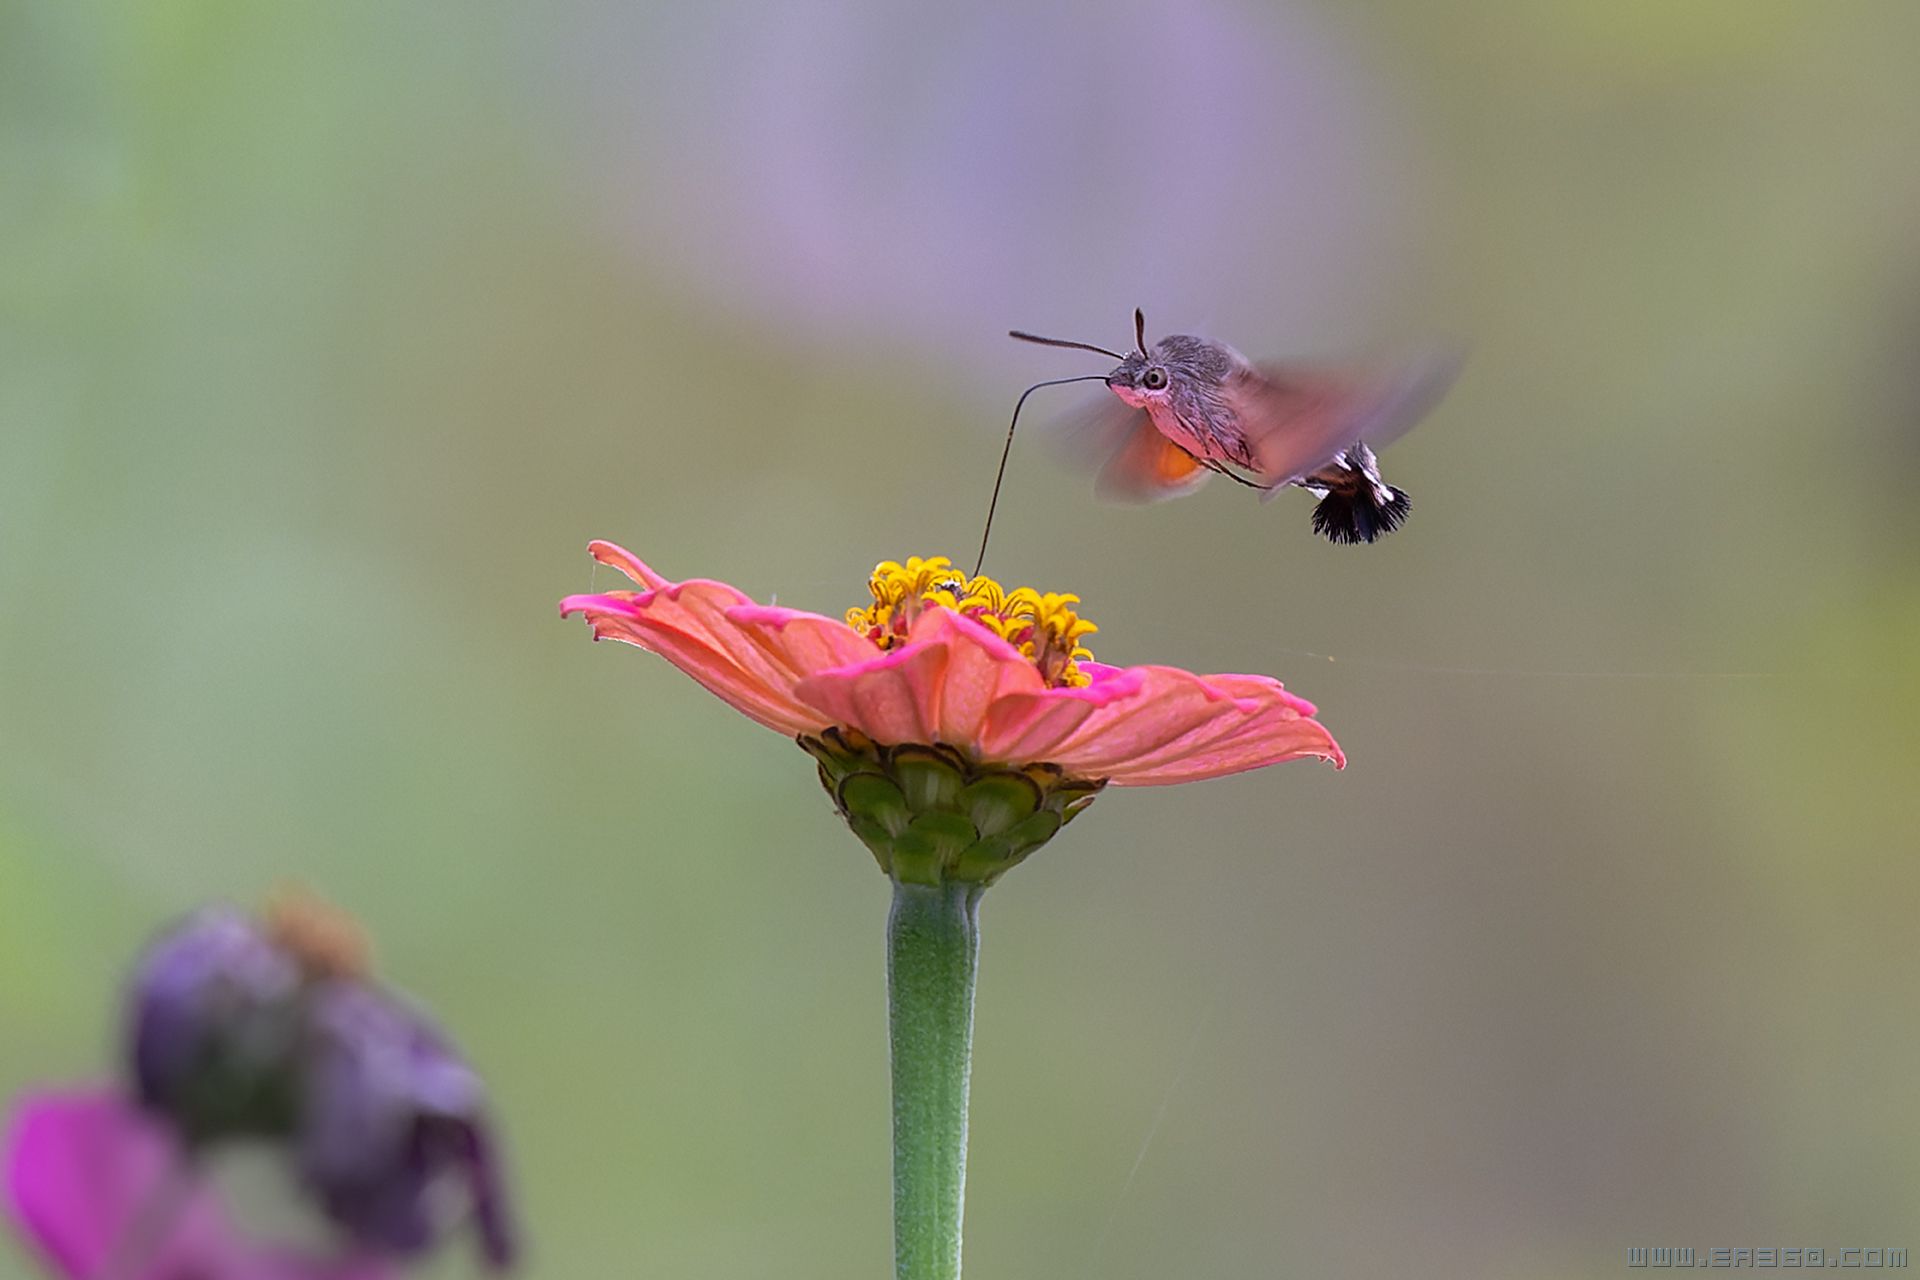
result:
<svg viewBox="0 0 1920 1280"><path fill-rule="evenodd" d="M893 1274L960 1278L981 885L893 885Z"/></svg>

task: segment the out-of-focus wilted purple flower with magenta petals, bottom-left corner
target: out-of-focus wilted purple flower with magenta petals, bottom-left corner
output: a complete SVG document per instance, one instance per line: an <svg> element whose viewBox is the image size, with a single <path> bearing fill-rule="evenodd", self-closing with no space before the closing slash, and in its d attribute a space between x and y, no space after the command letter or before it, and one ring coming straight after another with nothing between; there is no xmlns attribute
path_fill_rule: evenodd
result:
<svg viewBox="0 0 1920 1280"><path fill-rule="evenodd" d="M384 1276L474 1219L513 1257L478 1077L413 1007L374 986L338 912L282 900L267 923L205 910L161 936L131 983L131 1090L44 1094L15 1109L10 1207L75 1280ZM307 1257L238 1234L204 1155L267 1142L338 1228Z"/></svg>

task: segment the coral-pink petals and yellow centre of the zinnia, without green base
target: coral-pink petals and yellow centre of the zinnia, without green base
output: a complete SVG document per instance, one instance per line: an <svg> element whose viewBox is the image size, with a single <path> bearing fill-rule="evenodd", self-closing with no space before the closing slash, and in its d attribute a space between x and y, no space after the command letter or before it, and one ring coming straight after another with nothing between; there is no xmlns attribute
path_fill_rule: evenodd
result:
<svg viewBox="0 0 1920 1280"><path fill-rule="evenodd" d="M780 733L841 727L885 745L945 743L973 760L1044 760L1116 787L1302 756L1344 764L1313 704L1281 681L1091 662L1077 649L1092 629L1069 610L1077 597L1006 593L943 557L881 564L874 606L851 614L864 624L856 629L755 604L724 581L668 581L612 543L588 551L645 589L570 595L563 616L580 612L595 639L660 654Z"/></svg>

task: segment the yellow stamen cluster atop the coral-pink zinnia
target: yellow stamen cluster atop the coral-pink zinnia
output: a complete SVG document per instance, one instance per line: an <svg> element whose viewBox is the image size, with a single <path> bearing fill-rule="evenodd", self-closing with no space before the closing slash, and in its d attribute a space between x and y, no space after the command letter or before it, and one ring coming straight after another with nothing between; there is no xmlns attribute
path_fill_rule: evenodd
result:
<svg viewBox="0 0 1920 1280"><path fill-rule="evenodd" d="M1048 685L1091 683L1079 670L1079 660L1091 660L1092 652L1079 641L1098 628L1073 612L1077 595L1043 595L1033 587L1008 591L985 574L968 578L947 557L910 557L906 564L881 560L868 589L874 603L849 608L847 626L881 649L906 643L914 618L924 608L950 608L991 628L1031 660Z"/></svg>

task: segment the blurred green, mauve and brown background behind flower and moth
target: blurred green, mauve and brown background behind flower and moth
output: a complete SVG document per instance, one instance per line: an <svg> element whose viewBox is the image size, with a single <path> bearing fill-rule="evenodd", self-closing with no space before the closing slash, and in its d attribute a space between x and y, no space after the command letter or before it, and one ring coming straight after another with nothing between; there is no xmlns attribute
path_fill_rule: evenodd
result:
<svg viewBox="0 0 1920 1280"><path fill-rule="evenodd" d="M555 601L589 537L826 612L968 558L1018 390L1098 370L1000 334L1144 305L1473 359L1371 549L1016 449L991 570L1352 766L1108 793L989 896L968 1272L1920 1245L1914 48L0 2L0 1094L109 1071L142 940L298 877L484 1069L526 1274L887 1274L885 881Z"/></svg>

